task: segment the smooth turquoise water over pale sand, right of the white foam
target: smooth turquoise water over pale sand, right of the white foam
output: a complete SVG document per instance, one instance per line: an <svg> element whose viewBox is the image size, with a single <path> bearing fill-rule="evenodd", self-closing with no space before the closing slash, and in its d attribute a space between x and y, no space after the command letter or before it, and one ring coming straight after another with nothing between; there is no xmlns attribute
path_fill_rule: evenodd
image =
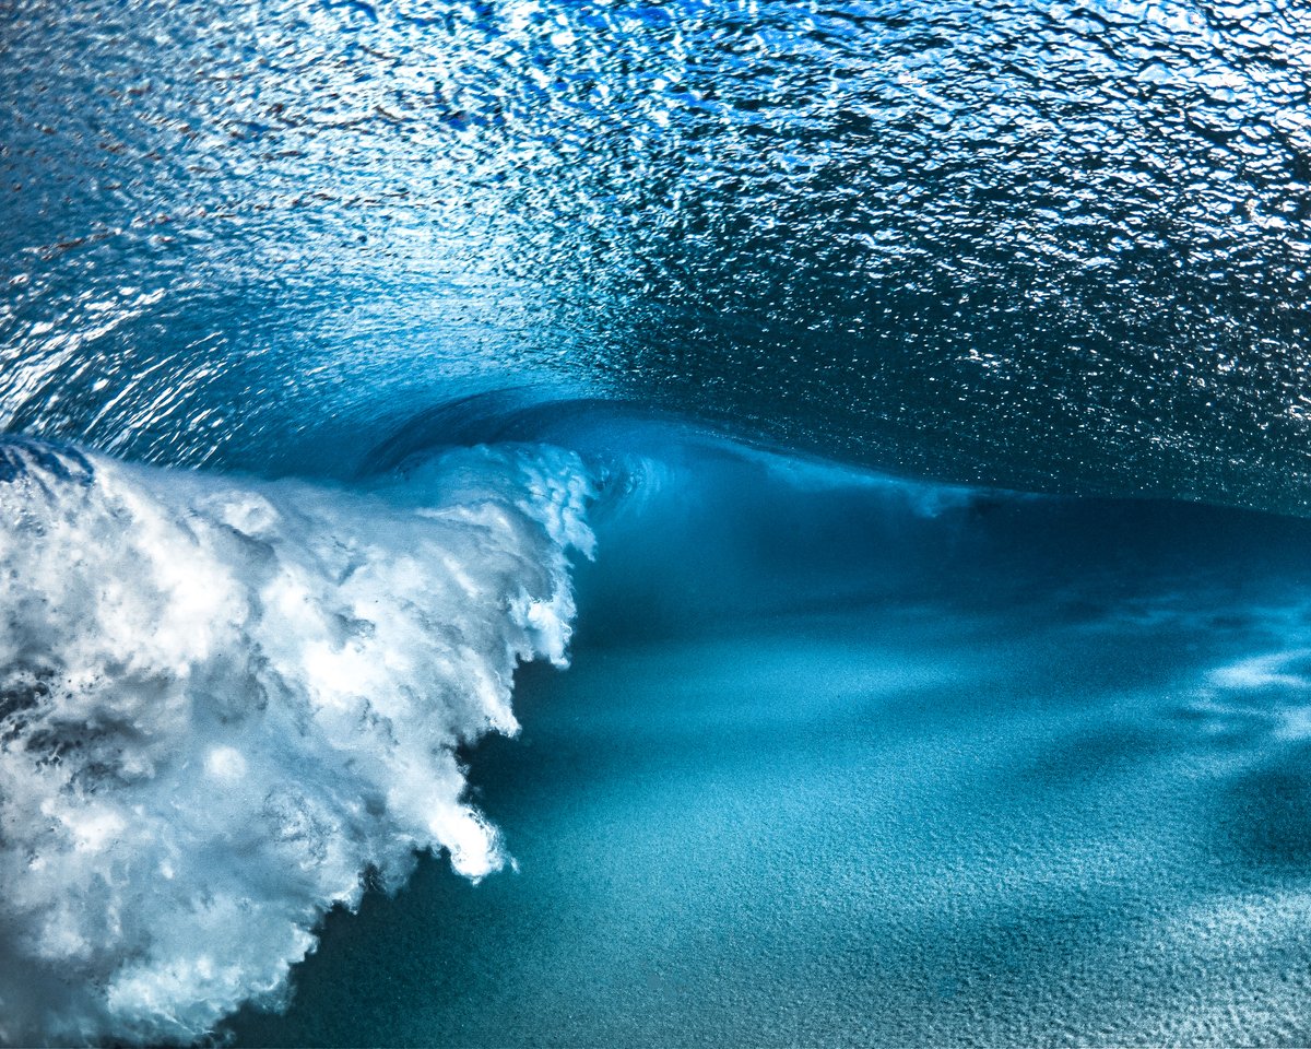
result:
<svg viewBox="0 0 1311 1049"><path fill-rule="evenodd" d="M467 755L515 868L330 915L237 1044L1307 1039L1306 526L697 475Z"/></svg>

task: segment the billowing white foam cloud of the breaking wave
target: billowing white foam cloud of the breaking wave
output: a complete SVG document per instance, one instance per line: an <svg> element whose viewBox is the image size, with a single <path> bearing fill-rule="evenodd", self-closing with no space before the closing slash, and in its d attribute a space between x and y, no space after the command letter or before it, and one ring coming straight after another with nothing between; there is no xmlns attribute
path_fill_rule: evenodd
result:
<svg viewBox="0 0 1311 1049"><path fill-rule="evenodd" d="M456 749L564 665L579 460L370 492L0 445L0 1041L193 1040L416 850L501 865Z"/></svg>

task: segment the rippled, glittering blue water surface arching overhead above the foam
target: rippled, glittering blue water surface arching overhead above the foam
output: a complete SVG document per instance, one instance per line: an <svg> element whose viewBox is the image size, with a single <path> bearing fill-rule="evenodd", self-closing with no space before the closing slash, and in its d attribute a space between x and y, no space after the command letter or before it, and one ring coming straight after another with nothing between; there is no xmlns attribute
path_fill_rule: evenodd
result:
<svg viewBox="0 0 1311 1049"><path fill-rule="evenodd" d="M918 476L1308 506L1303 0L0 20L5 427L343 476L517 382Z"/></svg>

